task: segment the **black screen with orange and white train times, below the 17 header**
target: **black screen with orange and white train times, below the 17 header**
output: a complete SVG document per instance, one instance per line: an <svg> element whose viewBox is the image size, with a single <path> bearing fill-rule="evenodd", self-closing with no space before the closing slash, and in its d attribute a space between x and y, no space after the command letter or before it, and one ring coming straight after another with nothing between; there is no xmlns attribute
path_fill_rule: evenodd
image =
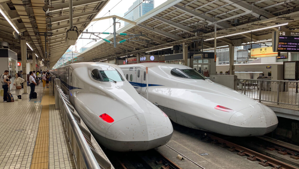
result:
<svg viewBox="0 0 299 169"><path fill-rule="evenodd" d="M279 36L277 52L299 52L299 37Z"/></svg>

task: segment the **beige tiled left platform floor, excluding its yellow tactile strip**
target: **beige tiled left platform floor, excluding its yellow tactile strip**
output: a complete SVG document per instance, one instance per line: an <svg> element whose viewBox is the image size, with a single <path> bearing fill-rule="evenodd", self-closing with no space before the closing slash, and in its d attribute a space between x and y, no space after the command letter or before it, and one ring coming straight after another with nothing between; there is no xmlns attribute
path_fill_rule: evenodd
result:
<svg viewBox="0 0 299 169"><path fill-rule="evenodd" d="M37 99L29 99L25 93L22 101L4 103L0 99L0 169L30 168L43 106L48 106L49 112L46 168L76 168L59 110L55 110L54 97L50 96L49 88L41 85L35 91ZM16 99L15 92L11 92ZM48 105L42 105L42 99L48 99L45 102Z"/></svg>

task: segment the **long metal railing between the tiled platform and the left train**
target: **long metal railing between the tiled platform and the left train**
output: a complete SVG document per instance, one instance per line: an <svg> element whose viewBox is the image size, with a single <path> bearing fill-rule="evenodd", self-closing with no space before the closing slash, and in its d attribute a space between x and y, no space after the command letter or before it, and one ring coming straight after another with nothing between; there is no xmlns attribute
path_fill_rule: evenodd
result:
<svg viewBox="0 0 299 169"><path fill-rule="evenodd" d="M60 84L60 79L56 79L56 82ZM91 143L91 134L81 126L80 116L75 113L67 96L55 83L53 82L55 108L60 109L77 168L110 169L111 164L96 152Z"/></svg>

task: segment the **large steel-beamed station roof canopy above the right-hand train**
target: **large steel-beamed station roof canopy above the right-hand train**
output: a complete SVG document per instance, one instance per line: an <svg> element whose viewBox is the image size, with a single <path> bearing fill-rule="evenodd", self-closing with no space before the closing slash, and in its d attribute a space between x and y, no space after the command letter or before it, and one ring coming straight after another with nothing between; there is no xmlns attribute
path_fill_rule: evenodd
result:
<svg viewBox="0 0 299 169"><path fill-rule="evenodd" d="M139 40L142 41L126 41L114 48L113 44L101 40L77 56L81 59L75 62L109 60L180 45L183 42L190 43L202 38L206 40L214 37L215 23L219 37L286 22L288 24L282 26L282 30L299 32L298 20L299 0L168 0L135 20L136 24L129 23L117 31L146 35L139 36ZM278 28L274 27L254 31L252 36L251 33L243 33L219 38L217 46L229 43L237 46L250 42L251 39L271 39L271 32L277 30ZM117 41L128 37L117 36ZM110 35L106 39L113 41L113 36ZM204 48L214 47L213 43L214 40L204 41Z"/></svg>

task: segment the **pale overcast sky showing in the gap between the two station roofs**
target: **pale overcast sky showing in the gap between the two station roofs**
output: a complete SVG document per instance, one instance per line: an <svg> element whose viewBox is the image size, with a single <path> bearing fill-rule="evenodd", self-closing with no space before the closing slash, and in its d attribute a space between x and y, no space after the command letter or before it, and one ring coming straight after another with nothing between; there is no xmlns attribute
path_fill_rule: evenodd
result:
<svg viewBox="0 0 299 169"><path fill-rule="evenodd" d="M111 15L117 15L120 17L124 16L124 13L126 11L128 11L129 7L133 4L133 2L136 0L110 0L108 2L108 4L103 8L103 10L101 10L101 12L95 17L95 18L101 18L103 16L111 16ZM167 0L155 0L154 1L154 7L158 7L159 5L161 5L162 3L166 2ZM116 5L116 6L115 6ZM114 7L115 6L115 7ZM108 12L110 10L110 12ZM120 22L120 25L117 24L116 25L116 30L120 29L124 26L124 22L123 21L118 21L118 19L116 19L117 22ZM96 21L96 22L91 22L88 26L87 29L89 32L113 32L113 19L105 19L105 20L100 20L100 21ZM84 30L86 31L86 30ZM84 34L83 37L84 38L89 38L90 35L88 34ZM101 37L107 37L109 35L102 35ZM81 37L81 36L80 36ZM99 40L97 40L97 42L93 41L89 39L79 39L77 41L77 51L79 52L79 49L81 47L90 47L92 45L94 45L95 43L97 43ZM71 50L75 50L75 46L71 46L70 47Z"/></svg>

